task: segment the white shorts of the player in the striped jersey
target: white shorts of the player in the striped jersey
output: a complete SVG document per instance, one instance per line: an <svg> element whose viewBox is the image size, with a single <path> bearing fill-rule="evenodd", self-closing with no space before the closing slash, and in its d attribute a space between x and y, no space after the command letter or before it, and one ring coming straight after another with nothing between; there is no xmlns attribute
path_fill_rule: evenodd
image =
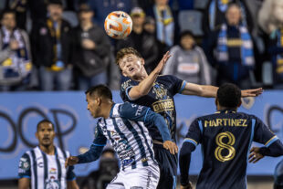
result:
<svg viewBox="0 0 283 189"><path fill-rule="evenodd" d="M160 177L155 163L132 170L120 171L106 189L155 189Z"/></svg>

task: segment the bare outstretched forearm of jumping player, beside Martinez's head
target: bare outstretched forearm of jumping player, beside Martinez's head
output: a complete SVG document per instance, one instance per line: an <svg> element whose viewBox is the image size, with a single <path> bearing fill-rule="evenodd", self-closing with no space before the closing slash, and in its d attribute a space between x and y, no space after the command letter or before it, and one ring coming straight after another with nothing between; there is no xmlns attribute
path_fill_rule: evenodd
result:
<svg viewBox="0 0 283 189"><path fill-rule="evenodd" d="M182 94L215 98L217 94L217 89L217 87L211 85L198 85L194 83L186 83Z"/></svg>

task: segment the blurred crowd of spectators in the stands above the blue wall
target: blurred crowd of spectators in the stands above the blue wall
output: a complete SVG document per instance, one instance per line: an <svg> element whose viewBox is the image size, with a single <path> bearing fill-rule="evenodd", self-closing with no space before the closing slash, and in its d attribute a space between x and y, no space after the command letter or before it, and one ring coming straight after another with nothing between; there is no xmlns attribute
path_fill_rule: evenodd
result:
<svg viewBox="0 0 283 189"><path fill-rule="evenodd" d="M134 47L151 72L198 84L283 89L283 0L2 0L0 90L120 89L115 53ZM114 40L105 17L132 18Z"/></svg>

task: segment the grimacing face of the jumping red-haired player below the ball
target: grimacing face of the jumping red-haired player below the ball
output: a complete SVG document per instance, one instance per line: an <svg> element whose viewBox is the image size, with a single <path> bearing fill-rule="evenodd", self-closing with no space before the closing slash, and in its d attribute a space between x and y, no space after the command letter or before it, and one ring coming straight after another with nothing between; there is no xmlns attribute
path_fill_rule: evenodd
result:
<svg viewBox="0 0 283 189"><path fill-rule="evenodd" d="M144 60L130 54L126 55L119 61L119 67L125 77L133 78L142 74Z"/></svg>

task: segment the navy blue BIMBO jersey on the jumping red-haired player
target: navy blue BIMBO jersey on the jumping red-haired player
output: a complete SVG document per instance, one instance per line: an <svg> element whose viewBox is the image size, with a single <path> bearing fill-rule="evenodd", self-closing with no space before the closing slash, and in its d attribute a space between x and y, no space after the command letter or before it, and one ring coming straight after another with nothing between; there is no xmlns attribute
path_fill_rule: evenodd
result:
<svg viewBox="0 0 283 189"><path fill-rule="evenodd" d="M160 113L167 123L173 141L175 141L176 111L173 96L182 92L185 81L170 75L159 76L147 95L142 96L138 100L131 100L129 92L133 86L137 85L139 85L138 81L123 78L121 82L121 99L150 107L152 111ZM158 129L152 124L146 126L150 131L152 140L162 142L162 137Z"/></svg>

